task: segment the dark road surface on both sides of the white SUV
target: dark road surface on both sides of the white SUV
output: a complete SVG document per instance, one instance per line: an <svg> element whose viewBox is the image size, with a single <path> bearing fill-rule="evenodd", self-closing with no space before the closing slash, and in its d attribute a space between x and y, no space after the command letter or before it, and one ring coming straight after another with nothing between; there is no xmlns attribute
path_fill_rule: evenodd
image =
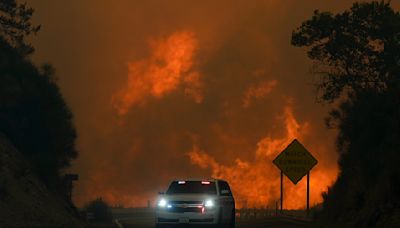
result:
<svg viewBox="0 0 400 228"><path fill-rule="evenodd" d="M127 211L131 210L131 211ZM154 213L151 210L146 209L127 209L123 213L122 210L115 213L120 227L123 228L153 228L154 227ZM309 221L295 219L288 216L270 216L259 219L245 219L240 221L237 219L236 228L262 228L262 227L308 227L310 226Z"/></svg>

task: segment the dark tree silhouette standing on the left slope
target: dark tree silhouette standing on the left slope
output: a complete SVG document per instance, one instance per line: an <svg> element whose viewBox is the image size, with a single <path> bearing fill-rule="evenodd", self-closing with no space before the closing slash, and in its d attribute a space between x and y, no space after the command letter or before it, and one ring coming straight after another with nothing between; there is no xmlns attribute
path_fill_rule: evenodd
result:
<svg viewBox="0 0 400 228"><path fill-rule="evenodd" d="M45 183L61 185L61 172L77 156L72 113L51 65L34 66L24 37L33 10L15 0L0 1L0 132L32 162Z"/></svg>

